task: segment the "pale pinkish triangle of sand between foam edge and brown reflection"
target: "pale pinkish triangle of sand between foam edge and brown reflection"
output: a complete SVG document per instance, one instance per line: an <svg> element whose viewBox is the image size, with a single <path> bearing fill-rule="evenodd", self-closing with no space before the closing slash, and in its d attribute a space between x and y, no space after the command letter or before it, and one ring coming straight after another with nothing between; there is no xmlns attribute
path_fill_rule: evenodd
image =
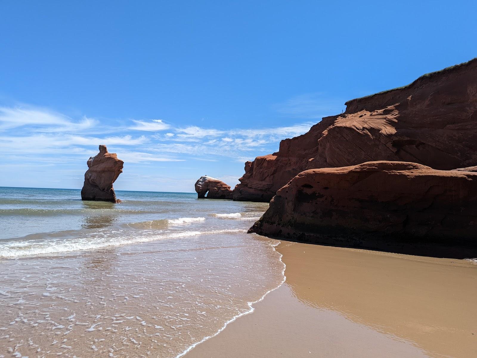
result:
<svg viewBox="0 0 477 358"><path fill-rule="evenodd" d="M254 305L186 358L426 358L409 342L357 324L332 310L302 304L288 284Z"/></svg>

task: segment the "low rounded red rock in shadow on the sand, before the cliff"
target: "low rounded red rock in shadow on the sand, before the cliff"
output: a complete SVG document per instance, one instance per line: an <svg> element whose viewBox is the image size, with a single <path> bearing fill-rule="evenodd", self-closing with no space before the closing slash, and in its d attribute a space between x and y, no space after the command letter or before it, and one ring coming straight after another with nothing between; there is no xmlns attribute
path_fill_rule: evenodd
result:
<svg viewBox="0 0 477 358"><path fill-rule="evenodd" d="M477 173L389 161L306 170L249 232L397 252L422 244L424 254L477 248Z"/></svg>

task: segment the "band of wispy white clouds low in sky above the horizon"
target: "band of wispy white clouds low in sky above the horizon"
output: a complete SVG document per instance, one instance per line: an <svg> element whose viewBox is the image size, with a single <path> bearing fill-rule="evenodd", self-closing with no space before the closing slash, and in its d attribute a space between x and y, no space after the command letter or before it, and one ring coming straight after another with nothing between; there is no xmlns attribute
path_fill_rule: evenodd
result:
<svg viewBox="0 0 477 358"><path fill-rule="evenodd" d="M124 160L128 170L122 178L129 178L123 181L128 185L133 185L131 178L135 176L145 180L143 188L155 188L152 183L162 183L175 171L181 172L182 179L178 178L178 182L192 183L197 180L195 176L203 175L202 171L207 168L214 168L214 176L228 178L228 184L235 185L243 170L239 162L276 151L281 139L301 135L314 124L230 129L174 126L160 119L130 119L125 125L122 122L122 126L116 123L87 116L76 119L40 107L0 107L2 169L16 171L20 177L34 170L42 173L40 177L53 178L41 185L59 186L61 184L55 183L80 180L87 158L96 155L98 145L104 144ZM166 167L161 169L161 166ZM147 181L146 178L156 179ZM4 182L10 183L2 180L0 186L5 185ZM170 186L173 187L174 182Z"/></svg>

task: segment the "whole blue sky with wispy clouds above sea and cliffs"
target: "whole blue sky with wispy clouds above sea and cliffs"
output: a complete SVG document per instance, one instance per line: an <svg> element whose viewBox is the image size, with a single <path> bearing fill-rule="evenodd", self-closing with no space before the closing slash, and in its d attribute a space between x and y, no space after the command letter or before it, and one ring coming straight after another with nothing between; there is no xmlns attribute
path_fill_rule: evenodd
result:
<svg viewBox="0 0 477 358"><path fill-rule="evenodd" d="M234 186L346 100L477 56L474 1L0 2L0 186Z"/></svg>

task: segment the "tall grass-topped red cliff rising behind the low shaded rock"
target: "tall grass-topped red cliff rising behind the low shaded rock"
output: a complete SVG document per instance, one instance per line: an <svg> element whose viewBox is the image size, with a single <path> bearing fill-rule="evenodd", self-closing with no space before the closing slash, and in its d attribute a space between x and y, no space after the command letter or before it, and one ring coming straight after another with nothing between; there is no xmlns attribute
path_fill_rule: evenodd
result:
<svg viewBox="0 0 477 358"><path fill-rule="evenodd" d="M303 170L370 160L410 161L436 169L477 164L477 59L412 84L346 102L276 153L245 163L234 200L268 201Z"/></svg>

